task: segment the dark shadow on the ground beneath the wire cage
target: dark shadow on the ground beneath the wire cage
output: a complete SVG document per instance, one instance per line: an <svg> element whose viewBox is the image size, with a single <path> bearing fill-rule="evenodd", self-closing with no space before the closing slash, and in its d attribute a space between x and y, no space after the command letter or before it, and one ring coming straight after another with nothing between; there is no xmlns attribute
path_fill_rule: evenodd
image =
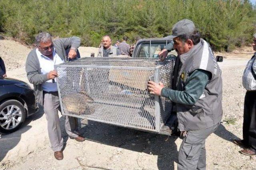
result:
<svg viewBox="0 0 256 170"><path fill-rule="evenodd" d="M86 140L157 155L159 170L174 169L174 162L177 162L178 158L177 146L174 143L177 136L166 136L94 121L82 120L81 123L80 134Z"/></svg>

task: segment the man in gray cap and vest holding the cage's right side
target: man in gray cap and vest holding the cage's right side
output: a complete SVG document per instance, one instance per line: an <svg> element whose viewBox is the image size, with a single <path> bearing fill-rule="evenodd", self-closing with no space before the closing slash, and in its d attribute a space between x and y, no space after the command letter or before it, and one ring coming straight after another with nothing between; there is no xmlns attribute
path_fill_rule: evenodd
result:
<svg viewBox="0 0 256 170"><path fill-rule="evenodd" d="M170 38L178 53L172 89L149 81L148 90L176 105L178 128L183 136L178 169L203 170L206 169L205 140L222 119L221 70L212 49L200 38L192 21L177 22Z"/></svg>

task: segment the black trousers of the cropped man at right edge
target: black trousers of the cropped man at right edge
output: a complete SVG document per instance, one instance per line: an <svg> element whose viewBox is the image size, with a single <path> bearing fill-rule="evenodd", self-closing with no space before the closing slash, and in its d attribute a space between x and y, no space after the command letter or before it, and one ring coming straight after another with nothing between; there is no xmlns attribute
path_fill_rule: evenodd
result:
<svg viewBox="0 0 256 170"><path fill-rule="evenodd" d="M247 91L244 97L244 143L256 152L256 91Z"/></svg>

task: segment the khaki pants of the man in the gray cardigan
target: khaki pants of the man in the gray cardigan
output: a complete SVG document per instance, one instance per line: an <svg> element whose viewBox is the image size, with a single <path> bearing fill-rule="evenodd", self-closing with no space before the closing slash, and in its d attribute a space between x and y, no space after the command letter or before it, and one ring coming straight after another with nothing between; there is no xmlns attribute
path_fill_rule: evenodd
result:
<svg viewBox="0 0 256 170"><path fill-rule="evenodd" d="M44 113L47 119L48 135L50 138L51 148L54 152L60 151L63 148L63 138L61 135L60 119L58 111L60 111L60 100L58 92L45 92L44 96ZM73 138L78 137L74 133L77 130L77 119L74 117L64 116L65 129L68 136Z"/></svg>

